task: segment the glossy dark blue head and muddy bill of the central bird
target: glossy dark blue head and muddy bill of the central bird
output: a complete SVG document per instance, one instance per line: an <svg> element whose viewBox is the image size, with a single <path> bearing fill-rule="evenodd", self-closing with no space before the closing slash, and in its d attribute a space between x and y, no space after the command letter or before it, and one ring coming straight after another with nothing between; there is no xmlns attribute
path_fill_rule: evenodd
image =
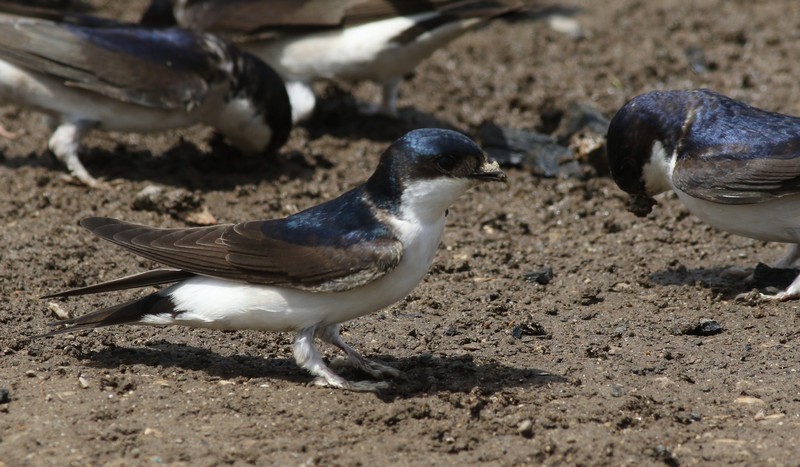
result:
<svg viewBox="0 0 800 467"><path fill-rule="evenodd" d="M381 155L366 190L379 205L396 203L415 182L463 181L464 190L479 182L506 181L496 162L461 133L423 128L407 133Z"/></svg>

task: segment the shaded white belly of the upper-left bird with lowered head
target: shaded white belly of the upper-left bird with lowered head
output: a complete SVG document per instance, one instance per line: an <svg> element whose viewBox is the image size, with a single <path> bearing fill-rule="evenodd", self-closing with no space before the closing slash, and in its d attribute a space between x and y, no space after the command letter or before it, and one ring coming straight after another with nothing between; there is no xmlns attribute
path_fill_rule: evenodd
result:
<svg viewBox="0 0 800 467"><path fill-rule="evenodd" d="M163 110L111 99L2 60L0 100L61 115L69 121L97 122L97 128L106 131L159 131L197 122L181 109Z"/></svg>

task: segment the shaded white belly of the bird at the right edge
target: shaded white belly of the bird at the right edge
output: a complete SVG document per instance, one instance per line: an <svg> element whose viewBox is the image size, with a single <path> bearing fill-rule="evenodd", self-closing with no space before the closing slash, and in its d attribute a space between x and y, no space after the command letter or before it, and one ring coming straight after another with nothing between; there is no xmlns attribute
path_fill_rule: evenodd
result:
<svg viewBox="0 0 800 467"><path fill-rule="evenodd" d="M800 195L734 205L675 191L692 214L717 229L768 242L800 243Z"/></svg>

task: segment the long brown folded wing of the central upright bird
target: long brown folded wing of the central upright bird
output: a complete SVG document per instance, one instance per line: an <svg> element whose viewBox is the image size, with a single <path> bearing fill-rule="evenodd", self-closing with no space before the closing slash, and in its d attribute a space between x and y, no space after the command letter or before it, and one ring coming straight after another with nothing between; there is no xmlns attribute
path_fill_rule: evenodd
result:
<svg viewBox="0 0 800 467"><path fill-rule="evenodd" d="M394 237L357 242L316 242L324 226L298 228L293 241L265 232L283 220L187 229L158 229L108 218L81 225L140 256L185 272L253 284L313 291L343 291L378 279L402 258ZM269 223L272 229L265 229ZM285 236L284 236L285 238Z"/></svg>

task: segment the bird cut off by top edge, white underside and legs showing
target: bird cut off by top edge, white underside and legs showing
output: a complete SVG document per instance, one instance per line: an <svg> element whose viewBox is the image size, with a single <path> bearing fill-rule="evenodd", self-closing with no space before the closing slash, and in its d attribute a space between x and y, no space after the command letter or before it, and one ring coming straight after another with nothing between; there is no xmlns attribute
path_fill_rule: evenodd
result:
<svg viewBox="0 0 800 467"><path fill-rule="evenodd" d="M380 111L397 115L402 78L437 49L491 18L522 11L512 0L154 0L142 16L233 40L286 81L294 121L316 105L318 79L374 81Z"/></svg>

